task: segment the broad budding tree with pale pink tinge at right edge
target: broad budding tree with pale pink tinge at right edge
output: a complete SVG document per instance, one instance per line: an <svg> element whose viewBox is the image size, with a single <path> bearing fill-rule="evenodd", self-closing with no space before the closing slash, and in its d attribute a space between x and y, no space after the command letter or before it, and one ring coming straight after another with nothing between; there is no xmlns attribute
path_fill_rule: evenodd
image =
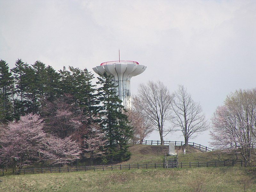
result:
<svg viewBox="0 0 256 192"><path fill-rule="evenodd" d="M244 158L244 166L251 162L256 131L256 89L238 90L231 93L224 106L217 108L212 118L213 131L211 145L239 152ZM226 138L225 138L226 136ZM239 148L237 148L239 146Z"/></svg>

